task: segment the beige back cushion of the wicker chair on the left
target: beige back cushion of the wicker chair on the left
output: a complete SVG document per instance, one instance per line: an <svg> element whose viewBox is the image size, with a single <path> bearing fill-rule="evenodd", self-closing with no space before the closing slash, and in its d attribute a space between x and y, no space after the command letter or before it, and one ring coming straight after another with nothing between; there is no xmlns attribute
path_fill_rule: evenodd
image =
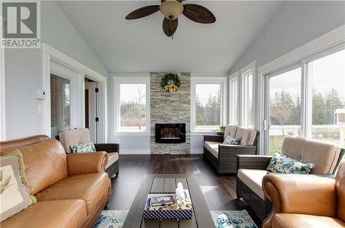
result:
<svg viewBox="0 0 345 228"><path fill-rule="evenodd" d="M60 132L59 139L67 154L72 153L71 145L90 142L90 133L87 128L71 129Z"/></svg>

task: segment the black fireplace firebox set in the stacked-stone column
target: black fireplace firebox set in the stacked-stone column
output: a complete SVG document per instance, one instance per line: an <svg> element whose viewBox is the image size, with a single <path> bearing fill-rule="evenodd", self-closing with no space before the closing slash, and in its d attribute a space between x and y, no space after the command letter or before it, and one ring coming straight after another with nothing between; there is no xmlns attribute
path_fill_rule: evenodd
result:
<svg viewBox="0 0 345 228"><path fill-rule="evenodd" d="M156 123L156 143L186 143L186 123Z"/></svg>

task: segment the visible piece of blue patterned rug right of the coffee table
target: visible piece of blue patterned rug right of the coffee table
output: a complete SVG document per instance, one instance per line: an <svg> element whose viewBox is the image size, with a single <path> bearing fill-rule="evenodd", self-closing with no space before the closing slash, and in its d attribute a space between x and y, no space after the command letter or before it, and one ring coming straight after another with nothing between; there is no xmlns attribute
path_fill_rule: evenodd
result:
<svg viewBox="0 0 345 228"><path fill-rule="evenodd" d="M217 228L257 228L246 210L210 212Z"/></svg>

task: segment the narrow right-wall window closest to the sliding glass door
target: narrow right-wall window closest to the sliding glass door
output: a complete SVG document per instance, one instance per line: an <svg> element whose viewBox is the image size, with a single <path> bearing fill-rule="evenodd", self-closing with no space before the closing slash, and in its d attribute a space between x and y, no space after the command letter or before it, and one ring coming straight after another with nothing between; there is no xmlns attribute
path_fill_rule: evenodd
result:
<svg viewBox="0 0 345 228"><path fill-rule="evenodd" d="M254 128L254 74L255 62L241 70L242 75L242 120L241 125L244 127Z"/></svg>

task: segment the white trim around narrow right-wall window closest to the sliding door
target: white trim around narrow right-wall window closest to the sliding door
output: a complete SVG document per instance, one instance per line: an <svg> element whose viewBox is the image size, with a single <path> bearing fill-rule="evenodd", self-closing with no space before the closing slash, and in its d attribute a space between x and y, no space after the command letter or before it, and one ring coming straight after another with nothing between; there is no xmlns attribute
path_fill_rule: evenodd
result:
<svg viewBox="0 0 345 228"><path fill-rule="evenodd" d="M246 74L252 74L252 80L253 80L253 91L252 91L252 116L249 116L249 118L251 118L252 123L253 123L253 128L255 128L255 105L256 105L256 101L255 101L255 81L256 81L256 68L255 68L255 61L253 61L252 63L249 63L248 65L246 65L244 68L242 68L240 71L240 77L239 77L239 101L240 101L240 105L239 105L239 123L242 126L246 126L245 123L245 116L246 114L244 113L244 105L246 104L246 101L244 101L244 92L245 92L245 85L244 85L244 76Z"/></svg>

